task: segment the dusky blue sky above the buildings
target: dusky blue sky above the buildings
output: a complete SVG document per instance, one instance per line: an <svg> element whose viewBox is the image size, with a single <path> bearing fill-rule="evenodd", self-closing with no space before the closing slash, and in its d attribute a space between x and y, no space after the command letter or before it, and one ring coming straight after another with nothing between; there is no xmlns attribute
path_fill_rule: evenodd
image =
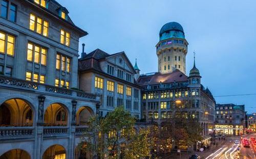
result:
<svg viewBox="0 0 256 159"><path fill-rule="evenodd" d="M124 51L141 73L157 71L155 45L168 22L182 25L188 41L186 72L196 66L214 96L256 93L256 1L57 0L89 34L86 52ZM215 97L217 103L245 105L256 112L256 95Z"/></svg>

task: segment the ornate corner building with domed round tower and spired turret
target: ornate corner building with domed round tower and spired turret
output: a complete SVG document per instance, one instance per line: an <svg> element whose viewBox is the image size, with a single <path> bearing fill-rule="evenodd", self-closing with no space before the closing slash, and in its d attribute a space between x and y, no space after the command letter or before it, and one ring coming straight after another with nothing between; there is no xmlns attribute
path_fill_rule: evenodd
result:
<svg viewBox="0 0 256 159"><path fill-rule="evenodd" d="M210 90L201 84L195 57L194 67L188 76L185 74L187 45L180 24L171 22L161 28L160 42L156 46L159 72L141 74L137 80L143 87L142 118L153 119L160 125L181 107L184 116L196 118L201 124L201 134L208 144L208 135L214 129L216 102ZM187 145L180 148L187 149Z"/></svg>

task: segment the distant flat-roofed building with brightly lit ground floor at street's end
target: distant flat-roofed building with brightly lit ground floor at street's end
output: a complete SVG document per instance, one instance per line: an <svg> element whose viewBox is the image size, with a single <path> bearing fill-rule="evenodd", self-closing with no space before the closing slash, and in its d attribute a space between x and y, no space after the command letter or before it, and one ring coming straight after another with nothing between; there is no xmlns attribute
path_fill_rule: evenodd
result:
<svg viewBox="0 0 256 159"><path fill-rule="evenodd" d="M244 105L217 104L215 113L215 130L217 133L244 134L246 114Z"/></svg>

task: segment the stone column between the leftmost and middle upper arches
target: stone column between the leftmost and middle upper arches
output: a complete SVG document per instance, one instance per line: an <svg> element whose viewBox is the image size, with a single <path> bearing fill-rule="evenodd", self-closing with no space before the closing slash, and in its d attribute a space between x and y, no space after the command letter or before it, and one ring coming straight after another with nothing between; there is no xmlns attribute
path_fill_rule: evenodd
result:
<svg viewBox="0 0 256 159"><path fill-rule="evenodd" d="M43 135L44 135L44 105L45 105L45 96L38 96L38 118L37 126L35 129L35 152L36 158L42 157L42 144L43 144Z"/></svg>

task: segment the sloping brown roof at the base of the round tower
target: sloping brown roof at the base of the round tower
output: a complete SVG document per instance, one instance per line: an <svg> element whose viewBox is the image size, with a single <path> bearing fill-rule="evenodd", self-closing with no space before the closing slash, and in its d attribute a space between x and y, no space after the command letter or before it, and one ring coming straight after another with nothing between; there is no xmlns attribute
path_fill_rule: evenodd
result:
<svg viewBox="0 0 256 159"><path fill-rule="evenodd" d="M180 70L176 69L173 72L162 74L157 72L153 75L141 75L137 80L137 83L140 86L147 86L149 85L158 85L160 82L162 84L173 83L173 82L186 82L187 76L182 73Z"/></svg>

